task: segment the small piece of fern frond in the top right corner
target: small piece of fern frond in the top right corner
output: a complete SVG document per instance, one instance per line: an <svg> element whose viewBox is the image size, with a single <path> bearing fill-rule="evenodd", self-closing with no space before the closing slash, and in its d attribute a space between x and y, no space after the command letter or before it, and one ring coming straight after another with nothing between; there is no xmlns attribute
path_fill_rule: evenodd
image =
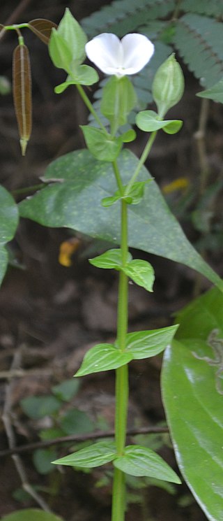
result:
<svg viewBox="0 0 223 521"><path fill-rule="evenodd" d="M185 13L223 17L223 2L221 0L182 0L180 9Z"/></svg>

